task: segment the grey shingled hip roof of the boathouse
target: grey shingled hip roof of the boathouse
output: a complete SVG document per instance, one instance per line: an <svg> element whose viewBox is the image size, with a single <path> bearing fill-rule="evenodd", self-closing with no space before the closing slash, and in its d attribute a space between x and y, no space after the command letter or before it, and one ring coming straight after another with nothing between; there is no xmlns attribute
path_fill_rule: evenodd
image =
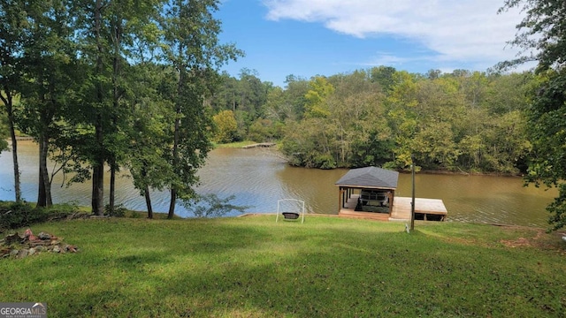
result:
<svg viewBox="0 0 566 318"><path fill-rule="evenodd" d="M397 171L365 167L349 170L335 185L395 189L398 178Z"/></svg>

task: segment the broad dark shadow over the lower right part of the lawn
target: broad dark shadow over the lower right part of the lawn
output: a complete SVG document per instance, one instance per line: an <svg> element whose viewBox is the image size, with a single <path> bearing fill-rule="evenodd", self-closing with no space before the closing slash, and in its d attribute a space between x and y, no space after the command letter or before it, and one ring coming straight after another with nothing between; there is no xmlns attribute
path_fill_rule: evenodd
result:
<svg viewBox="0 0 566 318"><path fill-rule="evenodd" d="M166 278L167 297L189 297L195 316L536 316L566 308L543 287L566 280L530 270L530 254L493 257L418 231L328 245L297 246L297 254L259 265L261 254L222 269L180 270Z"/></svg>

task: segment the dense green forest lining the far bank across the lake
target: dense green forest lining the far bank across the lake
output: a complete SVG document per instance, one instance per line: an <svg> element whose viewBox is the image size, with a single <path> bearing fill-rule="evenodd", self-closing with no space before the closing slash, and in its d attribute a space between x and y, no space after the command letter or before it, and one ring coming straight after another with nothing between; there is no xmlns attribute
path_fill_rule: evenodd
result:
<svg viewBox="0 0 566 318"><path fill-rule="evenodd" d="M289 163L333 169L517 174L531 144L524 112L532 72L426 74L379 66L329 77L287 77L286 87L249 70L222 76L210 97L218 142L281 140Z"/></svg>

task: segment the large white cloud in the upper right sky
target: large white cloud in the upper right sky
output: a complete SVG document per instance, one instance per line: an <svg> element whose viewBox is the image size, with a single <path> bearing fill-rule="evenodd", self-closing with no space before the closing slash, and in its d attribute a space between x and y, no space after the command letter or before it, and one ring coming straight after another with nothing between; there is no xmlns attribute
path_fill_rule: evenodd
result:
<svg viewBox="0 0 566 318"><path fill-rule="evenodd" d="M497 14L496 0L264 0L267 19L294 19L359 38L394 35L436 54L439 64L466 63L487 68L516 57L506 42L516 34L519 10ZM376 59L407 57L379 55ZM391 62L391 61L390 61ZM399 62L399 61L398 61ZM439 65L442 67L442 65Z"/></svg>

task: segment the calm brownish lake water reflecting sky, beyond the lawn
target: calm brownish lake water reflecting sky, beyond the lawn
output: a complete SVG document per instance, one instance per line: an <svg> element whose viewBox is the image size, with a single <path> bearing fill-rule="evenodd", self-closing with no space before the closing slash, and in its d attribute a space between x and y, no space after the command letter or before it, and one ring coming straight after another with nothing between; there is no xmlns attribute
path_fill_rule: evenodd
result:
<svg viewBox="0 0 566 318"><path fill-rule="evenodd" d="M36 201L37 145L19 141L18 146L23 197ZM208 163L199 171L201 185L197 192L215 193L220 198L234 195L231 203L248 206L247 212L275 212L279 199L294 198L305 201L310 213L337 214L339 192L334 183L346 172L291 167L270 148L218 148L210 152ZM55 202L90 205L89 182L68 188L61 187L63 182L62 176L53 182ZM510 177L417 174L415 183L417 197L444 201L449 221L546 227L545 207L557 194L555 189L524 187L521 178ZM106 192L109 187L107 183ZM400 175L395 195L411 195L410 174ZM117 181L116 199L126 208L146 210L145 201L125 174ZM10 152L0 155L0 200L14 200ZM169 194L153 193L152 202L155 211L166 212ZM176 214L191 216L180 205Z"/></svg>

